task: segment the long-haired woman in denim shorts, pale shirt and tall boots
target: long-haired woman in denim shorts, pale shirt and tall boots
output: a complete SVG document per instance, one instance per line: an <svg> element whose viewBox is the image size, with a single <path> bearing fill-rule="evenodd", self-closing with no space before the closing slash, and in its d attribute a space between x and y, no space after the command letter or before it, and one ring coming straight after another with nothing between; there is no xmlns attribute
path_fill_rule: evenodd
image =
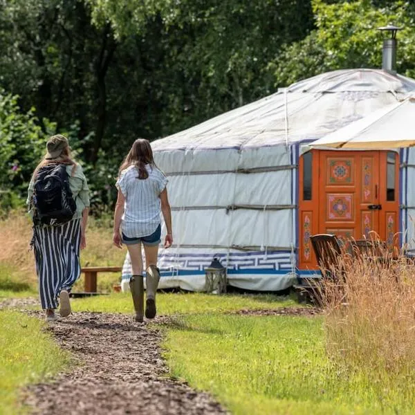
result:
<svg viewBox="0 0 415 415"><path fill-rule="evenodd" d="M163 213L167 235L165 248L172 246L172 214L167 198L167 178L154 163L148 140L138 139L124 158L116 186L118 199L114 212L113 243L118 248L127 245L131 258L129 280L136 322L144 318L144 277L141 244L146 266L147 318L156 317L156 291L160 279L157 268L160 244L160 213Z"/></svg>

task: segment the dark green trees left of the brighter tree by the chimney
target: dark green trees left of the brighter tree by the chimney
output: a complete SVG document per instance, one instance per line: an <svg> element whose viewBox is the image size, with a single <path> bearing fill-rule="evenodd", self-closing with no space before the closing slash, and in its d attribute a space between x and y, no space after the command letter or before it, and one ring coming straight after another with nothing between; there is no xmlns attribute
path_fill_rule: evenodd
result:
<svg viewBox="0 0 415 415"><path fill-rule="evenodd" d="M44 131L46 119L73 131L99 211L135 138L273 91L268 61L283 39L313 27L310 3L299 0L3 0L0 8L0 85L23 111L35 108Z"/></svg>

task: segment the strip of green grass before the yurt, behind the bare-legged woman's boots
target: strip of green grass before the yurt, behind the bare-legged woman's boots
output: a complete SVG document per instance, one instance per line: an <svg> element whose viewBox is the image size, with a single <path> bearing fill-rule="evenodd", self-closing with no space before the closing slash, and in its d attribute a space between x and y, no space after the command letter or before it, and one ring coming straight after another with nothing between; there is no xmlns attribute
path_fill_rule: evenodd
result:
<svg viewBox="0 0 415 415"><path fill-rule="evenodd" d="M133 303L129 293L74 299L72 305L73 311L133 313ZM242 308L279 308L293 305L295 305L293 299L276 295L209 295L203 293L160 293L157 295L159 315L225 313Z"/></svg>

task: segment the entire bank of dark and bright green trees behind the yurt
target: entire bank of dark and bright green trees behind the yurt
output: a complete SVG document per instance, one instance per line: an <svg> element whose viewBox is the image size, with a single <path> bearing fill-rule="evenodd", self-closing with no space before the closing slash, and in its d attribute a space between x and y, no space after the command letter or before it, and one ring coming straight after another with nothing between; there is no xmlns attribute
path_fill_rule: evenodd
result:
<svg viewBox="0 0 415 415"><path fill-rule="evenodd" d="M34 153L21 147L27 168L5 187L8 141L1 209L21 205L56 131L84 162L93 210L109 212L135 138L167 136L323 71L380 67L376 28L389 21L405 26L398 69L415 76L414 17L403 0L0 0L0 95L30 120L26 144L39 142ZM12 126L0 128L7 136Z"/></svg>

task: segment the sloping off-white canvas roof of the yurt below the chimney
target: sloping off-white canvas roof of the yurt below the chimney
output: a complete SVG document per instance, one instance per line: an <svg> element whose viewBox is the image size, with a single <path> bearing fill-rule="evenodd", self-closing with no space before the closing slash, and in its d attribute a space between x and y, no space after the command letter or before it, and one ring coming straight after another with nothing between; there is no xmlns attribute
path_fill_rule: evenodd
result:
<svg viewBox="0 0 415 415"><path fill-rule="evenodd" d="M243 149L316 140L415 91L415 80L345 69L296 82L152 143L154 151Z"/></svg>

